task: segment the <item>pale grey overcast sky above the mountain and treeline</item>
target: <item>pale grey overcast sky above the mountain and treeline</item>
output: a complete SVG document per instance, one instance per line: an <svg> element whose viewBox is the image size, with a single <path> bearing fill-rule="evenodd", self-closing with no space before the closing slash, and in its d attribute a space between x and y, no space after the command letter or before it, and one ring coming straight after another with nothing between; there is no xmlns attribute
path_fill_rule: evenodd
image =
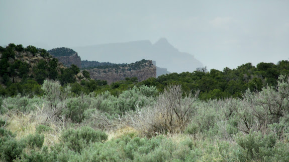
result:
<svg viewBox="0 0 289 162"><path fill-rule="evenodd" d="M161 37L208 69L288 60L289 0L0 0L2 46Z"/></svg>

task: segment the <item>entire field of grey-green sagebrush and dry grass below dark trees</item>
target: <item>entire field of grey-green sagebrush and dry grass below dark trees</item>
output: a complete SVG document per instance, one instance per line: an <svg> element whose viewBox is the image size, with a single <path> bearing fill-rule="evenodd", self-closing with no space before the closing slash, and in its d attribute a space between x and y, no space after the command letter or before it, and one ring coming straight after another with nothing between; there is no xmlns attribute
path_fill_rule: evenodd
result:
<svg viewBox="0 0 289 162"><path fill-rule="evenodd" d="M170 85L119 96L71 95L45 80L43 96L1 98L3 161L289 161L289 78L242 99L202 101Z"/></svg>

